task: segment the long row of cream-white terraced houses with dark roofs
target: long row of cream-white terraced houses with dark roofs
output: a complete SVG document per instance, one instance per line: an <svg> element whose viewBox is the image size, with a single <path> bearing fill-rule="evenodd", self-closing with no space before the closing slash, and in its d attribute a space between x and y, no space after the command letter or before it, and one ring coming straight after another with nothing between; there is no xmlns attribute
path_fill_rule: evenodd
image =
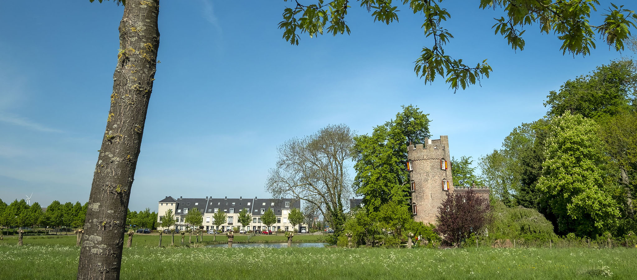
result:
<svg viewBox="0 0 637 280"><path fill-rule="evenodd" d="M203 226L205 230L227 230L229 228L237 227L240 230L294 230L294 225L290 224L287 216L290 210L296 208L301 209L301 201L292 198L212 198L206 196L206 198L173 198L172 196L166 196L166 198L160 200L157 203L157 222L161 223L166 210L173 209L175 213L175 219L177 221L176 227L180 229L185 228L184 219L186 214L192 209L196 208L203 215ZM239 212L247 209L252 215L252 223L246 228L239 223ZM261 221L261 216L268 209L272 209L276 216L276 223L270 228L267 228ZM217 228L213 224L213 214L218 211L224 211L227 219L225 223ZM305 226L305 225L302 225ZM158 229L164 229L161 226Z"/></svg>

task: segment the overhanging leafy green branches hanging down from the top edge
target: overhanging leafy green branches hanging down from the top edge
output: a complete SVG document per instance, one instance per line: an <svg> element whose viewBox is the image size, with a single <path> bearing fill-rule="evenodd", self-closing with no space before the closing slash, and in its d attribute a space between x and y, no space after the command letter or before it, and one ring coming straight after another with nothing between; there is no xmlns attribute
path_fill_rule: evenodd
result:
<svg viewBox="0 0 637 280"><path fill-rule="evenodd" d="M445 53L445 45L454 36L443 26L451 14L439 2L360 1L361 7L373 11L371 16L374 21L385 24L397 22L399 10L411 10L414 14L424 15L424 35L433 39L433 42L430 47L423 47L422 54L416 59L416 74L424 77L426 83L433 82L434 78L440 76L446 78L450 87L464 89L482 77L488 78L492 69L487 64L487 59L477 64L466 64L462 59L454 59ZM590 24L591 11L596 11L598 1L481 0L479 3L483 10L503 9L503 17L494 18L492 29L496 34L503 35L513 50L524 50L524 28L537 24L540 32L557 34L557 38L562 41L560 50L564 54L569 52L573 55L590 54L590 49L595 48L595 38L598 35L615 50L624 50L624 41L629 39L629 28L635 27L637 16L623 6L611 5L606 10L607 13L601 15L603 20L599 24ZM334 36L346 32L350 34L350 27L345 21L350 8L347 0L319 0L315 4L296 1L296 6L283 10L279 28L283 29L283 38L292 45L299 44L299 33L308 33L310 37L323 34L324 31Z"/></svg>

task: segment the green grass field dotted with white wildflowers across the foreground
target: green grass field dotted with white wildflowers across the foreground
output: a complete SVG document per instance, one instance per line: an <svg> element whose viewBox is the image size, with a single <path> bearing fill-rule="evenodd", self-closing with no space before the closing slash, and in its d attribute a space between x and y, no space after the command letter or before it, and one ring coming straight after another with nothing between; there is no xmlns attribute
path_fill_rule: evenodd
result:
<svg viewBox="0 0 637 280"><path fill-rule="evenodd" d="M636 279L636 249L124 249L122 279ZM295 237L296 238L296 237ZM211 238L210 238L211 239ZM135 240L135 239L133 239ZM204 239L205 240L205 239ZM75 279L75 239L0 244L2 279ZM15 244L15 243L13 243ZM38 244L38 245L36 245Z"/></svg>

